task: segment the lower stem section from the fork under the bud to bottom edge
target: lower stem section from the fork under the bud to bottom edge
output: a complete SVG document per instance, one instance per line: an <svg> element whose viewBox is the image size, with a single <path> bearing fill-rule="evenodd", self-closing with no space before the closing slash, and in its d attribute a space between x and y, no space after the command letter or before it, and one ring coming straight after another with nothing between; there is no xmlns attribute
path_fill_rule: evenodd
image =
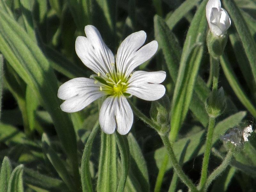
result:
<svg viewBox="0 0 256 192"><path fill-rule="evenodd" d="M180 164L178 163L177 159L176 159L176 156L174 154L174 151L172 149L172 145L168 139L168 136L167 135L161 135L160 134L160 137L164 143L164 146L167 148L167 152L168 152L168 155L169 155L169 158L172 162L172 166L173 166L173 169L175 170L175 172L178 174L178 176L180 177L180 180L185 183L185 185L188 186L188 188L190 189L190 191L198 191L196 189L196 186L193 184L193 182L187 177L187 175L182 171L181 167L180 167Z"/></svg>

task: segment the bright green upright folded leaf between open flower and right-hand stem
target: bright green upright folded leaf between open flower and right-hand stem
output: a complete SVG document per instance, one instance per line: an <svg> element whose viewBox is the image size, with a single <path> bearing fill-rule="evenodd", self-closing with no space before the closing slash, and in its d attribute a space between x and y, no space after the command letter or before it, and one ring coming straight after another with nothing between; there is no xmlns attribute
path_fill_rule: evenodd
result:
<svg viewBox="0 0 256 192"><path fill-rule="evenodd" d="M191 51L188 52L187 60L180 64L172 99L171 141L176 140L180 126L187 115L202 56L203 47L201 44L196 44Z"/></svg>

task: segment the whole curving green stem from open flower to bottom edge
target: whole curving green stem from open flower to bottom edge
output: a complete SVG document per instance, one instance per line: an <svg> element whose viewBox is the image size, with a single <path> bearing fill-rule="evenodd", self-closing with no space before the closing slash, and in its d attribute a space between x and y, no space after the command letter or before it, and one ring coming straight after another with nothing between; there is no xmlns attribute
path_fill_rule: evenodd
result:
<svg viewBox="0 0 256 192"><path fill-rule="evenodd" d="M175 170L175 172L178 174L178 176L180 177L180 180L188 186L188 188L193 192L198 192L198 190L196 189L196 186L193 184L193 182L187 177L187 175L182 171L180 164L178 163L175 154L173 152L172 149L172 145L169 141L169 138L166 134L162 134L161 133L161 127L157 124L155 124L154 122L152 122L147 116L145 116L143 113L140 112L140 110L138 108L136 108L132 102L129 102L130 105L132 106L132 109L135 113L136 116L138 116L143 122L145 122L146 124L148 124L149 126L151 126L153 129L155 129L158 134L160 135L161 139L163 140L164 146L167 149L169 158L171 160L173 169Z"/></svg>

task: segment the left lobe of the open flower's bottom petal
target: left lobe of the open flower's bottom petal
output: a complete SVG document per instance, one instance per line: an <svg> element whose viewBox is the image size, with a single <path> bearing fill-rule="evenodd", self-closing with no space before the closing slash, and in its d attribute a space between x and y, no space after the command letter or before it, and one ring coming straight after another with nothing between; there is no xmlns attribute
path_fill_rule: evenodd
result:
<svg viewBox="0 0 256 192"><path fill-rule="evenodd" d="M101 105L99 122L104 133L112 134L116 129L115 109L117 106L116 97L108 97Z"/></svg>

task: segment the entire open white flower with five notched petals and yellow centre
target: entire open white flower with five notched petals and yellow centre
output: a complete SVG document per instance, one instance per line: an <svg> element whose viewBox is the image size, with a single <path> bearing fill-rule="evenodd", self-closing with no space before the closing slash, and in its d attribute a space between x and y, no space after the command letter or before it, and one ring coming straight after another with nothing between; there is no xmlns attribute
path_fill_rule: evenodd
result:
<svg viewBox="0 0 256 192"><path fill-rule="evenodd" d="M165 93L165 87L160 84L166 77L164 71L133 71L156 53L158 44L151 41L142 46L146 41L146 33L132 33L120 44L115 62L113 53L103 42L99 31L92 25L85 26L84 31L86 37L76 38L76 54L97 75L74 78L62 84L58 97L65 101L60 108L65 112L76 112L100 97L107 96L100 108L100 127L107 134L117 129L124 135L130 131L133 123L132 108L126 97L135 95L153 101Z"/></svg>

